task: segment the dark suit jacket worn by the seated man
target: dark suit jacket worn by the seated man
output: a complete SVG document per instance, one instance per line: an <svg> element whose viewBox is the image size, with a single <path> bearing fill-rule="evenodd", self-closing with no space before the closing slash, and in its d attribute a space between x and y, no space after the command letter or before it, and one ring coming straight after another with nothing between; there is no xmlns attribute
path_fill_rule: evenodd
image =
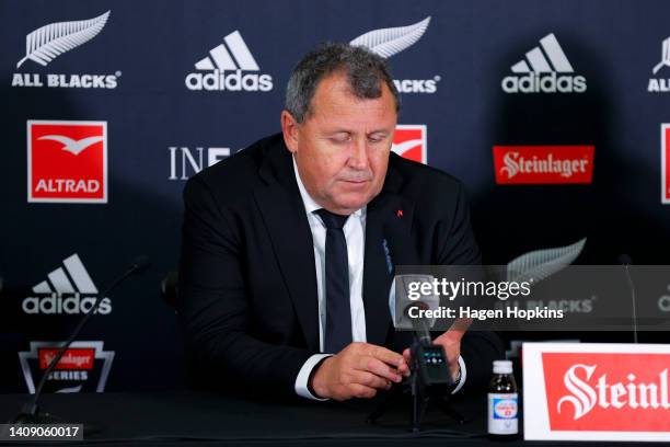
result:
<svg viewBox="0 0 670 447"><path fill-rule="evenodd" d="M293 396L298 371L319 353L319 317L312 234L281 135L192 177L184 202L177 313L196 383ZM408 342L391 322L382 231L398 209L421 264L481 259L461 183L391 153L367 207L362 296L368 343L397 351ZM462 356L466 386L477 387L501 346L473 332Z"/></svg>

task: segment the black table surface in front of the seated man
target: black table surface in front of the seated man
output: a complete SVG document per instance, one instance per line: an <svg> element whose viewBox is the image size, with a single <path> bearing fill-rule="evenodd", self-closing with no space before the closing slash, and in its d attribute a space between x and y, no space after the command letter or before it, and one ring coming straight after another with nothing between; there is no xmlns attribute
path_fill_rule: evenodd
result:
<svg viewBox="0 0 670 447"><path fill-rule="evenodd" d="M0 394L0 422L8 422L26 401L25 394ZM171 391L162 393L45 394L43 411L63 422L84 424L84 444L104 445L347 445L443 446L495 445L485 436L485 397L460 397L452 405L467 422L460 425L430 405L423 432L408 429L409 402L400 402L374 424L366 416L377 403L272 402L219 393ZM25 445L25 443L23 443ZM76 445L77 443L67 443ZM565 445L524 443L506 445ZM594 446L596 443L589 443ZM605 444L603 444L605 445Z"/></svg>

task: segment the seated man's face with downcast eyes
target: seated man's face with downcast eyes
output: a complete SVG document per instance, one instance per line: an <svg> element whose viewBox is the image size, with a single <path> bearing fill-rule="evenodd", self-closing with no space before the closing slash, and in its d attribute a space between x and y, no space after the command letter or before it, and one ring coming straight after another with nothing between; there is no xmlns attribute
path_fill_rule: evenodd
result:
<svg viewBox="0 0 670 447"><path fill-rule="evenodd" d="M308 193L327 210L349 215L379 194L386 175L397 114L384 83L377 99L356 98L345 73L321 80L311 113L281 127Z"/></svg>

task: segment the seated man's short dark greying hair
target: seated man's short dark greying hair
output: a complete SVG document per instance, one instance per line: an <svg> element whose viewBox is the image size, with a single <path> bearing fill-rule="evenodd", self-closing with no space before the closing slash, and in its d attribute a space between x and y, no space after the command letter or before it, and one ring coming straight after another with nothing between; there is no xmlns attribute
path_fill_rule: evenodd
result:
<svg viewBox="0 0 670 447"><path fill-rule="evenodd" d="M347 74L349 88L356 98L380 98L382 83L385 83L395 100L395 111L400 112L400 94L381 56L366 47L328 42L308 53L288 81L285 108L298 123L302 123L312 112L311 102L319 82L338 71Z"/></svg>

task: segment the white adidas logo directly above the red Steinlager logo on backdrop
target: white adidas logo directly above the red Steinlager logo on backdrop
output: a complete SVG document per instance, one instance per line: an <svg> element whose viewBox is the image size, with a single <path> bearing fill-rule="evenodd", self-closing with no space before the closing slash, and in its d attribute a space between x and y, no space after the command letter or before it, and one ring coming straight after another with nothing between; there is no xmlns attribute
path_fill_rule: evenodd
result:
<svg viewBox="0 0 670 447"><path fill-rule="evenodd" d="M540 46L528 51L511 71L518 76L503 79L506 93L584 93L587 89L584 76L570 74L575 72L573 65L553 33L542 37Z"/></svg>

